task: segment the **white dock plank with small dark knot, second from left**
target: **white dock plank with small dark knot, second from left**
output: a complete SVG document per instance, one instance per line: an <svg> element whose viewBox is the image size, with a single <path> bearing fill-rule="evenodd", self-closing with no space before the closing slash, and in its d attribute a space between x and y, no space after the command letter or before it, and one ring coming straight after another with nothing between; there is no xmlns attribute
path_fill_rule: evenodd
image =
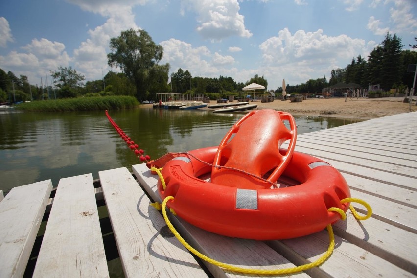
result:
<svg viewBox="0 0 417 278"><path fill-rule="evenodd" d="M33 277L109 277L91 174L61 179Z"/></svg>

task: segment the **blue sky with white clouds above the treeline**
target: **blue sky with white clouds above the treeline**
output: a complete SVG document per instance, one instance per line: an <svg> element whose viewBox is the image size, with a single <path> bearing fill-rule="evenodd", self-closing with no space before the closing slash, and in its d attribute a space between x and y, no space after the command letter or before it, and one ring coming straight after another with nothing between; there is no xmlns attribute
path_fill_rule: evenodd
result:
<svg viewBox="0 0 417 278"><path fill-rule="evenodd" d="M144 29L164 48L161 63L192 76L264 76L296 85L330 79L389 31L411 49L416 0L12 0L0 1L0 68L31 84L72 66L102 78L109 41Z"/></svg>

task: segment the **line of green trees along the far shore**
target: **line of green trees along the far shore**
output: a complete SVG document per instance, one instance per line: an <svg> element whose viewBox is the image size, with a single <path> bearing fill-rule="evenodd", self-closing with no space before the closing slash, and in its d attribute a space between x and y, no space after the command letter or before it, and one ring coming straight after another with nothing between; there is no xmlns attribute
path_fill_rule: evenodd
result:
<svg viewBox="0 0 417 278"><path fill-rule="evenodd" d="M316 93L338 82L357 83L362 88L368 88L369 84L380 84L380 88L386 91L401 86L411 88L414 74L407 72L407 67L416 63L417 52L401 50L402 47L399 37L387 33L381 44L370 52L367 60L358 55L345 68L331 70L329 81L324 76L297 85L287 84L286 91ZM157 93L169 93L171 90L173 93L238 93L252 82L268 89L266 78L257 74L246 82L236 82L228 76L193 77L191 72L183 69L173 72L171 84L167 84L170 65L159 64L163 48L155 44L144 30L122 31L119 37L111 39L110 49L108 64L120 68L122 72L110 71L103 79L87 81L85 84L84 76L71 67L58 67L58 70L50 72L53 87L30 85L27 76L21 75L19 78L13 72L6 73L0 69L0 102L46 100L51 98L52 91L54 98L116 94L136 96L139 100L155 100ZM281 87L276 89L276 93L279 92L282 92Z"/></svg>

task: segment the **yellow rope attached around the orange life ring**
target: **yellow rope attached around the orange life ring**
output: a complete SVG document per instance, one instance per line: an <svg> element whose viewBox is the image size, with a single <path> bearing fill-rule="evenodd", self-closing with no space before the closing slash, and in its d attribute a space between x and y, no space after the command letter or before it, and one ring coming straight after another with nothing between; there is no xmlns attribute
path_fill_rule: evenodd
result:
<svg viewBox="0 0 417 278"><path fill-rule="evenodd" d="M188 249L192 254L198 256L199 258L213 264L216 265L218 267L230 270L230 271L234 271L234 272L239 272L239 273L247 273L247 274L261 274L261 275L279 275L279 274L289 274L289 273L295 273L295 272L300 272L300 271L304 271L316 266L319 266L321 264L323 264L333 253L334 250L334 233L333 233L333 228L331 226L331 224L328 224L326 229L328 231L328 235L329 235L329 247L327 249L327 251L324 253L324 255L322 255L320 258L318 258L316 261L311 262L311 263L307 263L304 265L300 265L300 266L296 266L296 267L290 267L290 268L285 268L285 269L271 269L271 270L265 270L265 269L252 269L252 268L242 268L242 267L236 267L236 266L232 266L230 264L226 264L223 262L219 262L216 261L212 258L209 258L206 255L201 254L200 252L198 252L196 249L194 249L191 245L189 245L185 239L177 232L177 230L174 228L174 226L172 225L171 221L169 221L168 216L166 214L166 203L169 200L174 200L173 196L167 196L163 202L162 202L162 206L160 205L160 203L156 202L156 203L152 203L151 206L155 207L156 209L162 209L162 215L163 215L163 219L166 222L166 225L168 226L169 230L171 230L171 232L175 235L175 237L178 239L178 241L180 241L184 247L186 249ZM358 220L366 220L368 218L371 217L372 215L372 208L371 206L358 198L345 198L342 199L340 201L342 204L343 203L359 203L361 205L363 205L366 209L367 209L367 214L365 216L360 216L356 210L353 208L352 204L350 204L349 209L351 210L353 216L358 219ZM175 214L175 212L170 209L172 213ZM330 209L328 209L328 211L333 211L333 212L337 212L341 215L342 220L346 219L346 213L345 211L343 211L342 209L336 208L336 207L332 207Z"/></svg>

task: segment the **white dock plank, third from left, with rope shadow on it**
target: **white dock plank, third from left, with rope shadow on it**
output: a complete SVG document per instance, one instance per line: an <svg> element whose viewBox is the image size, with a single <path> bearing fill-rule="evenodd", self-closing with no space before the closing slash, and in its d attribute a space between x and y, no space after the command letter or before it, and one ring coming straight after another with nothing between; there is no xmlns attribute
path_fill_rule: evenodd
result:
<svg viewBox="0 0 417 278"><path fill-rule="evenodd" d="M126 277L206 276L126 168L99 176Z"/></svg>

